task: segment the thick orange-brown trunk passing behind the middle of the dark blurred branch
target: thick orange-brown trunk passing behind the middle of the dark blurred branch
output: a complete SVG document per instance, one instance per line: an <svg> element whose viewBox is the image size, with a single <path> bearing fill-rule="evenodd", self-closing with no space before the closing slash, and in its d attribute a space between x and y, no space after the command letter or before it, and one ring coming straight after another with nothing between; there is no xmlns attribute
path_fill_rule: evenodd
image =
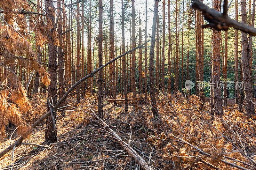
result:
<svg viewBox="0 0 256 170"><path fill-rule="evenodd" d="M219 11L219 0L213 0L213 9ZM222 99L221 89L217 88L220 83L220 31L212 31L212 85L213 85L213 103L215 117L221 117Z"/></svg>

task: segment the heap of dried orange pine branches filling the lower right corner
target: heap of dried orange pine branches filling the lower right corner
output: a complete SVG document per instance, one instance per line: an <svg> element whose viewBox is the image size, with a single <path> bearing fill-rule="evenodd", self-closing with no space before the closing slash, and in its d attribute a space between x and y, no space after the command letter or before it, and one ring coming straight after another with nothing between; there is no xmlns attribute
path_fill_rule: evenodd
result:
<svg viewBox="0 0 256 170"><path fill-rule="evenodd" d="M171 130L150 136L148 142L162 148L162 158L173 162L176 169L209 169L203 162L235 169L222 160L248 169L255 166L256 116L247 118L230 104L224 108L223 118L216 119L209 103L199 110L198 97L182 94L160 95L158 108L164 125ZM165 168L174 167L168 164Z"/></svg>

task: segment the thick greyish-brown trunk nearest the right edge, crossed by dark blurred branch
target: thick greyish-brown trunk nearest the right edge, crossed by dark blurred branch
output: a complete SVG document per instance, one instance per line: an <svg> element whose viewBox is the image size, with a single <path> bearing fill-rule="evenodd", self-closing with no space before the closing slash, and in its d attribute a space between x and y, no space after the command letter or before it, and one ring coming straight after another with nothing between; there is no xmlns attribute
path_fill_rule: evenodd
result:
<svg viewBox="0 0 256 170"><path fill-rule="evenodd" d="M247 15L246 15L246 1L241 0L241 21L244 24L247 24ZM245 103L246 103L246 114L251 117L254 115L254 105L253 105L253 96L252 96L252 84L251 84L251 75L250 75L250 58L248 54L248 39L247 33L241 32L241 41L242 41L242 55L241 63L243 68L243 80L244 80L244 93L245 93Z"/></svg>

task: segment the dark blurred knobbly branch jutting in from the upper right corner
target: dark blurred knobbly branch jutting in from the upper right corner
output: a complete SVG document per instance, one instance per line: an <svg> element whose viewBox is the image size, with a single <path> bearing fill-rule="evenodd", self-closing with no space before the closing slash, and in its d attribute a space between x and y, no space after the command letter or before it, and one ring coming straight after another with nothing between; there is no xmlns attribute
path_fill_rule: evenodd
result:
<svg viewBox="0 0 256 170"><path fill-rule="evenodd" d="M226 15L225 13L222 14L219 11L208 7L207 5L198 0L192 1L191 8L193 8L194 10L202 11L204 19L209 22L208 25L203 27L212 27L216 30L224 31L228 30L229 27L233 27L252 36L256 36L256 28L254 28L253 26L248 26L246 24L237 22L236 20L229 18L228 15Z"/></svg>

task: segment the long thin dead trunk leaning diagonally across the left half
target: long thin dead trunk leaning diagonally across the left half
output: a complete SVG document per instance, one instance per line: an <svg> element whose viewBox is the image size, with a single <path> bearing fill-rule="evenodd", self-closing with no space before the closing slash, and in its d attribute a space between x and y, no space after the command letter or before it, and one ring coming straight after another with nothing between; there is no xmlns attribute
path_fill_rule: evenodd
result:
<svg viewBox="0 0 256 170"><path fill-rule="evenodd" d="M150 40L148 40L147 42L149 42ZM144 46L147 42L145 42L144 44L135 47L127 52L125 52L122 55L119 55L118 57L114 58L113 60L109 61L108 63L102 65L101 67L99 67L98 69L93 70L90 74L86 75L85 77L81 78L80 80L78 80L63 96L62 98L58 101L58 103L52 108L53 112L56 112L57 108L60 106L60 104L68 97L68 95L76 88L77 85L79 85L80 83L82 83L84 80L86 80L87 78L90 78L92 76L94 76L95 73L97 73L98 71L100 71L101 69L103 69L104 67L106 67L108 64L113 63L114 61L116 61L117 59L121 58L124 55L127 55L129 53L131 53L132 51L141 48L142 46ZM45 114L44 116L42 116L40 119L38 119L33 125L31 125L32 128L35 128L38 124L40 124L41 122L44 121L44 119L46 119L48 116L51 115L51 112L48 112L47 114ZM24 140L24 138L21 136L16 142L14 142L13 144L11 144L10 146L8 146L6 149L4 149L2 152L0 152L0 158L3 157L7 152L11 151L13 149L14 146L19 146L22 141Z"/></svg>

